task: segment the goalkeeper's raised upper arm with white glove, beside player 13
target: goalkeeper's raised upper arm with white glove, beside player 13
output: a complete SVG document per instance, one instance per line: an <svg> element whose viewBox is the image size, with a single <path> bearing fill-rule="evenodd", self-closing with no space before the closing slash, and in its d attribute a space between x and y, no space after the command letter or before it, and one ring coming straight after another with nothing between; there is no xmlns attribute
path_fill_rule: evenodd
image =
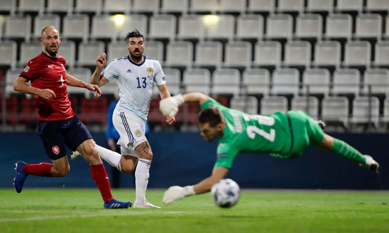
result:
<svg viewBox="0 0 389 233"><path fill-rule="evenodd" d="M200 92L192 92L184 95L178 94L159 101L159 110L163 116L174 117L178 112L178 107L184 102L196 102L201 105L209 99L211 97Z"/></svg>

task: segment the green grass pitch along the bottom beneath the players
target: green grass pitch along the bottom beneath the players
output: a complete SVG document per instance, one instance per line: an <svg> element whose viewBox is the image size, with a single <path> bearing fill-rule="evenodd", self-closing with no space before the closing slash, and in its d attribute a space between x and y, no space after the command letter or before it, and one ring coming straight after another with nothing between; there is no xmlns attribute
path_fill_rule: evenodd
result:
<svg viewBox="0 0 389 233"><path fill-rule="evenodd" d="M133 201L134 190L113 190ZM238 204L222 209L210 194L161 203L161 209L103 209L97 189L0 189L1 233L388 233L389 193L369 191L242 190Z"/></svg>

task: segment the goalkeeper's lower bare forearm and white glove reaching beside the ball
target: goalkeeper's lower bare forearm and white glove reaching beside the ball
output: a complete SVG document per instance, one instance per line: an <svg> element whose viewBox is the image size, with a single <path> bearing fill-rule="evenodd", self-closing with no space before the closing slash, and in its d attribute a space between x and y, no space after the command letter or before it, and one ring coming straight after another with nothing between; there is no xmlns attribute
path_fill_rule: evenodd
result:
<svg viewBox="0 0 389 233"><path fill-rule="evenodd" d="M165 204L170 204L175 200L183 199L187 196L209 192L212 188L212 185L226 177L229 170L230 169L226 167L215 167L213 168L212 175L200 183L195 185L188 185L185 187L177 185L171 186L163 194L162 202Z"/></svg>

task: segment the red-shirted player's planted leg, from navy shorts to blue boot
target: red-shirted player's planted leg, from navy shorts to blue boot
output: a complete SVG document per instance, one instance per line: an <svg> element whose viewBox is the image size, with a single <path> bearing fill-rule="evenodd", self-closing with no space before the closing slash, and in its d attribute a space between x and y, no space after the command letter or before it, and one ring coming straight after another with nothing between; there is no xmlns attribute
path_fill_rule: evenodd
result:
<svg viewBox="0 0 389 233"><path fill-rule="evenodd" d="M88 129L77 117L72 119L73 122L66 134L66 145L71 150L80 152L89 162L93 181L97 184L104 200L104 208L122 209L131 207L131 202L121 202L113 198L106 169Z"/></svg>

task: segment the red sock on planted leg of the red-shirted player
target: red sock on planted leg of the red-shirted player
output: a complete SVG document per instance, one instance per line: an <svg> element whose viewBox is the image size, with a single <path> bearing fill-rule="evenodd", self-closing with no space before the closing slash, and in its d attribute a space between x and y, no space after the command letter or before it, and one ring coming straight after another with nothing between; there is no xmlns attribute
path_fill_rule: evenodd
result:
<svg viewBox="0 0 389 233"><path fill-rule="evenodd" d="M100 190L104 203L113 200L111 186L109 185L109 179L104 164L91 165L90 173L92 173L92 178Z"/></svg>

